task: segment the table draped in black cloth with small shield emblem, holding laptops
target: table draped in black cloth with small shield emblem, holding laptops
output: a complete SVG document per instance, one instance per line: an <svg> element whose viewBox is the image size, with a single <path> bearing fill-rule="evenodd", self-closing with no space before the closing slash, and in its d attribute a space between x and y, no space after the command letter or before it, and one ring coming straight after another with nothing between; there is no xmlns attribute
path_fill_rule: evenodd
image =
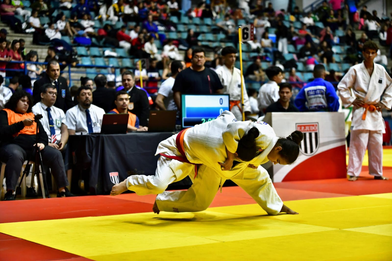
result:
<svg viewBox="0 0 392 261"><path fill-rule="evenodd" d="M71 135L68 140L69 164L75 174L81 169L89 169L91 192L108 194L114 184L128 176L155 175L159 158L159 155L154 156L156 148L173 134L131 132Z"/></svg>

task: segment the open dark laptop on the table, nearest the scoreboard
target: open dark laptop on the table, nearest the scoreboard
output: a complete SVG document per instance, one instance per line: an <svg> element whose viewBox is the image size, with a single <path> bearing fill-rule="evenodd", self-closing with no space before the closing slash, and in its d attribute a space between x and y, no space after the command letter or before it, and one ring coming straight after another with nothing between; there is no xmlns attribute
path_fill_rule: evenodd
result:
<svg viewBox="0 0 392 261"><path fill-rule="evenodd" d="M171 132L176 129L177 111L150 111L149 132Z"/></svg>

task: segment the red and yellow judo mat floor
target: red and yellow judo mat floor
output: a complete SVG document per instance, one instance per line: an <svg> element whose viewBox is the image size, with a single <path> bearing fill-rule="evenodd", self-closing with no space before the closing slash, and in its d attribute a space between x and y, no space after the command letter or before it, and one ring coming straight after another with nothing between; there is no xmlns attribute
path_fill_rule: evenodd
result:
<svg viewBox="0 0 392 261"><path fill-rule="evenodd" d="M392 149L384 149L392 178ZM199 213L151 212L155 196L0 202L0 260L392 260L392 179L275 183L299 215L267 216L238 187Z"/></svg>

